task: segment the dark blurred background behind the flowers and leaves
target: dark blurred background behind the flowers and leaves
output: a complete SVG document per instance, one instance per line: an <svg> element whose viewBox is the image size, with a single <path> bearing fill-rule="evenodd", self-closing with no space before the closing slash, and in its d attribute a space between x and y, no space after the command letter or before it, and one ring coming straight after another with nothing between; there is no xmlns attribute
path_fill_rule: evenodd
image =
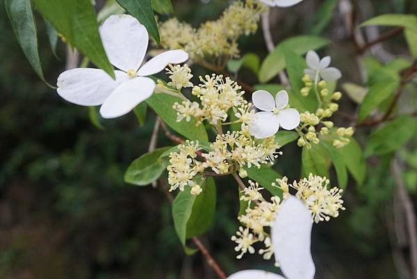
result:
<svg viewBox="0 0 417 279"><path fill-rule="evenodd" d="M101 120L105 129L97 129L88 108L65 102L38 79L0 2L0 278L215 278L201 254L183 253L170 205L161 190L123 182L126 167L147 152L154 114L148 113L143 127L138 127L130 113L117 120ZM293 8L274 9L275 42L309 33L321 2L306 0ZM173 3L179 19L197 26L217 18L230 1ZM416 13L414 0L361 0L359 7L362 20L382 13ZM361 83L343 20L336 8L322 33L333 44L321 54L333 56L332 65L342 70L343 81ZM58 45L57 60L41 20L38 28L44 72L54 83L65 69L66 48L62 42ZM240 49L265 57L261 31L242 38ZM392 51L394 56L407 54L402 35L390 40L387 49L384 51ZM193 70L195 76L203 73ZM240 79L258 83L245 70ZM341 101L345 113L353 115L355 107L347 97ZM349 124L343 118L336 122ZM366 133L358 134L362 143ZM158 145L170 144L161 133ZM298 179L299 148L292 143L283 151L277 169L290 180ZM407 250L393 246L390 239L395 201L389 166L384 164L387 160L370 162L365 185L358 187L350 180L345 193L347 210L340 217L315 225L312 251L316 278L404 278L402 253L406 255ZM414 194L417 177L410 173L407 186ZM259 255L236 260L229 239L238 228L237 186L227 179L216 182L215 221L202 240L227 273L244 268L273 269L272 262Z"/></svg>

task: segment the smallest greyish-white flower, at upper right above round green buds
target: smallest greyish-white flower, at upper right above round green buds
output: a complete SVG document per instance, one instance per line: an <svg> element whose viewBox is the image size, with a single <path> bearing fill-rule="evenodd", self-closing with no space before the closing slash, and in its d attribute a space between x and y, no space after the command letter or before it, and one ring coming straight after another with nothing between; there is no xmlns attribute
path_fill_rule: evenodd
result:
<svg viewBox="0 0 417 279"><path fill-rule="evenodd" d="M325 56L320 60L316 51L311 50L306 56L306 63L310 68L304 70L304 74L308 74L316 82L319 77L325 81L336 81L342 77L342 73L335 67L329 67L331 61L330 56Z"/></svg>

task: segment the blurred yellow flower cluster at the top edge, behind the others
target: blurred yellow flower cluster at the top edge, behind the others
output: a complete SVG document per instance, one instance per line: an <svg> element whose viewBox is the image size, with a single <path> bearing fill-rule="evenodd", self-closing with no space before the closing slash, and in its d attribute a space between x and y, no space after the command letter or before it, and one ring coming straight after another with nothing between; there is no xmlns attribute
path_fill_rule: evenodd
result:
<svg viewBox="0 0 417 279"><path fill-rule="evenodd" d="M218 20L205 22L198 29L176 18L169 19L159 26L161 46L184 49L197 60L206 56L237 56L237 39L256 31L266 9L259 1L234 1Z"/></svg>

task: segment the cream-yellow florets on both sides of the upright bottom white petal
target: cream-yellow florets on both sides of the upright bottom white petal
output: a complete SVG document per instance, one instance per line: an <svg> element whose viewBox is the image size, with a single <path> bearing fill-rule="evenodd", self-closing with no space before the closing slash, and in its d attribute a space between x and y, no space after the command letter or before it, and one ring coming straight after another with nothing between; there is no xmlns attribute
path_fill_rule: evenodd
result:
<svg viewBox="0 0 417 279"><path fill-rule="evenodd" d="M341 199L342 190L334 187L327 189L329 180L326 177L317 175L309 175L300 182L288 184L288 178L283 177L277 179L277 184L272 186L278 187L283 191L283 200L290 196L290 187L297 190L295 196L302 200L309 207L313 220L316 223L320 221L329 221L330 216L337 217L339 210L345 210L343 200ZM270 239L269 230L275 219L275 214L279 212L281 199L278 196L272 196L270 201L265 200L261 194L263 188L259 187L257 182L248 181L248 186L241 193L243 195L240 200L248 202L245 214L238 216L238 220L242 225L239 227L236 235L231 237L237 246L236 252L240 252L238 259L242 258L245 253L254 254L254 244L263 243L265 248L259 249L259 255L263 255L263 259L270 260L273 255L273 246ZM251 203L254 205L251 206Z"/></svg>

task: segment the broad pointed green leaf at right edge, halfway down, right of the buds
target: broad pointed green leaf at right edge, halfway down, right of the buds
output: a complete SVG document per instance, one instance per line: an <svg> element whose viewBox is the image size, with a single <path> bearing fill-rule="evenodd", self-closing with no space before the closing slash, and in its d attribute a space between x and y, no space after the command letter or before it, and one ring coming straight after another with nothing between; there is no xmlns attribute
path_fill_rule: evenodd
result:
<svg viewBox="0 0 417 279"><path fill-rule="evenodd" d="M417 118L409 115L399 116L370 135L365 149L365 157L398 150L398 148L415 136L416 132Z"/></svg>

